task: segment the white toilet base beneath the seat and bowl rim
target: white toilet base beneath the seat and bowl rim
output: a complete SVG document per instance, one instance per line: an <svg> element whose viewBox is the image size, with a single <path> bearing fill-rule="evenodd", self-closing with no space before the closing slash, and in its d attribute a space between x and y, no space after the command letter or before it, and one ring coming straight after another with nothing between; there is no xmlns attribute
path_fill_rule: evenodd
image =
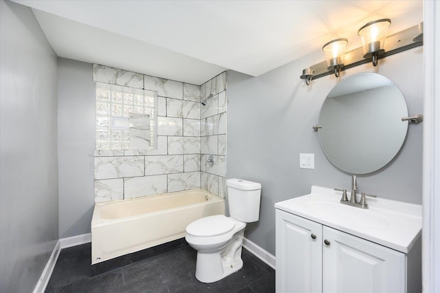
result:
<svg viewBox="0 0 440 293"><path fill-rule="evenodd" d="M244 229L237 232L228 246L214 253L197 252L195 277L202 283L213 283L243 268L241 248Z"/></svg>

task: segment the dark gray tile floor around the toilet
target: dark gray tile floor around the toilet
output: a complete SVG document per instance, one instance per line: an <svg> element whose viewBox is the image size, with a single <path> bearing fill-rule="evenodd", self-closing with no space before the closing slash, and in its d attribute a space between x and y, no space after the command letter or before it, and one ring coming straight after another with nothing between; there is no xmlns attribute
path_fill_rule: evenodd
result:
<svg viewBox="0 0 440 293"><path fill-rule="evenodd" d="M91 276L91 243L61 250L45 292L275 292L275 271L243 248L243 268L205 284L195 279L196 251L170 252Z"/></svg>

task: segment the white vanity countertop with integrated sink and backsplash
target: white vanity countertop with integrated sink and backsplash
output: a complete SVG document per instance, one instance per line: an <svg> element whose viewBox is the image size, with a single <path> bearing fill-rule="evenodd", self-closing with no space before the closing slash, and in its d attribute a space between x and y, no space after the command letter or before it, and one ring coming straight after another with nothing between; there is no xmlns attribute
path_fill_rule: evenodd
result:
<svg viewBox="0 0 440 293"><path fill-rule="evenodd" d="M369 208L362 209L340 204L341 197L333 188L311 186L310 194L277 202L275 208L404 253L421 235L419 204L368 197Z"/></svg>

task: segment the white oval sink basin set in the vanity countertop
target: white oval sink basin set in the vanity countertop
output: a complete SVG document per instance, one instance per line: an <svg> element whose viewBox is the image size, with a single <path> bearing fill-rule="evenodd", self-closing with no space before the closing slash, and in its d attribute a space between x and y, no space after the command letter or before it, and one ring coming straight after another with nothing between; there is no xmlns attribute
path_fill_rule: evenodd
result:
<svg viewBox="0 0 440 293"><path fill-rule="evenodd" d="M390 222L386 217L377 213L376 210L363 210L353 208L353 206L345 206L338 202L318 200L305 202L304 207L310 210L311 213L322 215L322 217L332 219L340 224L349 222L353 226L369 228L384 228L390 226Z"/></svg>

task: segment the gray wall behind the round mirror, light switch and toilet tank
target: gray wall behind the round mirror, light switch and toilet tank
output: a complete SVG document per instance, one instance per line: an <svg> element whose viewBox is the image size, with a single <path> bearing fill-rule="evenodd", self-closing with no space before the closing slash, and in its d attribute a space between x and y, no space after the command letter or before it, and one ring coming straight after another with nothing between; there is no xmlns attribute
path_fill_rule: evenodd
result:
<svg viewBox="0 0 440 293"><path fill-rule="evenodd" d="M338 79L326 76L307 87L299 78L304 68L323 58L317 52L256 78L228 72L227 177L261 182L260 221L249 224L245 236L272 254L276 202L305 195L311 185L351 186L351 175L325 158L311 129ZM377 72L390 78L404 94L411 115L423 113L422 64L423 48L417 47L380 60L377 67L369 63L348 69L341 77ZM422 128L423 123L410 124L396 158L380 171L358 176L360 192L421 204ZM299 153L315 154L314 170L299 169Z"/></svg>

